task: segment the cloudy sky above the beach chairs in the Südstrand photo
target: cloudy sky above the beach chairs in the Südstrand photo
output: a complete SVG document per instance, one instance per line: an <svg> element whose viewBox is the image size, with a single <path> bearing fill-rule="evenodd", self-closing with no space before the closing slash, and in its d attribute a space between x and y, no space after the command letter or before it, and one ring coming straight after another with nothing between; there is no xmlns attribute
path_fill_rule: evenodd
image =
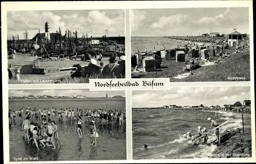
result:
<svg viewBox="0 0 256 164"><path fill-rule="evenodd" d="M249 8L132 9L132 36L249 34Z"/></svg>

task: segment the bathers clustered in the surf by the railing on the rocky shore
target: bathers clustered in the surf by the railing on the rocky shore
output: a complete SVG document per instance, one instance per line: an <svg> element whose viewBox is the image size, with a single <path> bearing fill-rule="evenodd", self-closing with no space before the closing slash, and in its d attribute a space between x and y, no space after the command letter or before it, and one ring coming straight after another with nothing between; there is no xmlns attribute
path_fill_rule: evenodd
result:
<svg viewBox="0 0 256 164"><path fill-rule="evenodd" d="M203 141L203 144L207 144L207 140L208 140L207 134L209 132L211 132L212 128L215 128L215 127L219 126L217 124L217 122L215 120L212 120L211 118L208 118L207 121L211 122L211 126L210 126L209 131L207 131L206 127L198 126L198 132L194 136L192 136L191 133L188 131L187 134L183 135L183 137L185 139L188 139L188 140L192 141L193 145L199 145L202 141ZM216 142L219 142L219 132L220 132L219 128L217 128L215 130L216 130L215 134L216 134L216 137L217 137Z"/></svg>

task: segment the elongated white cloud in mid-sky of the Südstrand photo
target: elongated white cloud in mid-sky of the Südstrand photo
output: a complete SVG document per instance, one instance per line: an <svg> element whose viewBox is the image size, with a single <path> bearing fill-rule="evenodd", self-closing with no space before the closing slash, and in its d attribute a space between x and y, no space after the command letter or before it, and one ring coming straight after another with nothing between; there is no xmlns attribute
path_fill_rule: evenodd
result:
<svg viewBox="0 0 256 164"><path fill-rule="evenodd" d="M183 22L187 18L187 15L184 14L177 14L177 15L170 15L168 17L160 17L158 22L151 24L151 28L158 29L164 28L166 25L178 25Z"/></svg>

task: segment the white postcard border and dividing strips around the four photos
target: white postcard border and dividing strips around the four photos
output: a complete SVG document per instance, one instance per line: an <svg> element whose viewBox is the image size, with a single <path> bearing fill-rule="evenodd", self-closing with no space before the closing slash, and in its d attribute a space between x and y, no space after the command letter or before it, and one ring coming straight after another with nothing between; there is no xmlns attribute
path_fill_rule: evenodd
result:
<svg viewBox="0 0 256 164"><path fill-rule="evenodd" d="M51 4L51 5L49 5ZM99 5L100 4L100 5ZM185 4L185 5L184 5ZM250 79L251 81L251 105L252 108L255 106L254 102L254 60L253 60L253 12L252 12L252 1L129 1L129 2L2 2L1 8L1 15L2 15L2 68L7 68L7 10L81 10L81 9L88 9L88 10L100 10L100 9L149 9L149 8L214 8L214 7L249 7L249 28L250 28ZM130 15L130 14L129 14ZM131 21L131 20L130 20ZM129 21L129 22L130 22ZM126 27L126 25L125 25ZM129 29L126 28L125 35L131 34L131 27ZM127 37L127 36L126 36ZM129 35L129 44L131 43ZM126 41L126 39L125 39ZM125 46L127 42L125 42ZM129 56L129 51L131 51L131 44L125 47L126 56ZM127 61L131 59L127 58ZM131 68L128 67L129 64L126 64L126 78L131 78ZM128 68L128 69L127 69ZM3 95L8 95L8 74L5 69L2 69L2 83L3 83ZM248 86L247 82L205 82L205 83L170 83L171 87L178 87L178 86L193 86L193 87L200 87L202 86ZM9 89L81 89L81 88L89 88L88 84L39 84L39 85L9 85ZM127 96L131 95L131 91L126 91L126 101ZM130 97L131 98L131 97ZM3 96L3 116L8 115L8 96ZM130 100L131 102L131 100ZM128 103L128 101L127 101ZM126 103L126 104L127 104ZM127 111L131 110L131 106L129 108L129 104L126 106ZM129 114L129 113L127 113ZM124 162L147 162L147 163L154 163L154 162L255 162L255 111L252 110L252 120L251 120L251 128L252 128L252 158L200 158L200 159L162 159L162 160L88 160L88 161L38 161L38 162L22 162L22 163L124 163ZM128 115L127 115L128 117ZM129 119L132 119L131 116ZM129 124L127 119L127 124ZM8 118L3 117L3 130L4 130L4 163L9 162L9 129L8 129ZM131 124L132 125L132 124ZM126 127L127 128L127 127ZM128 128L129 129L129 128ZM129 130L126 130L128 133ZM254 130L254 131L253 131ZM129 135L126 135L126 139L129 138ZM131 136L130 136L131 137ZM132 138L127 139L127 141L132 141ZM129 143L126 143L129 144ZM130 143L132 144L132 142ZM127 154L129 147L126 147ZM127 156L128 158L128 156ZM128 158L129 159L129 158ZM130 158L131 159L131 158ZM20 163L20 162L11 162L11 163Z"/></svg>

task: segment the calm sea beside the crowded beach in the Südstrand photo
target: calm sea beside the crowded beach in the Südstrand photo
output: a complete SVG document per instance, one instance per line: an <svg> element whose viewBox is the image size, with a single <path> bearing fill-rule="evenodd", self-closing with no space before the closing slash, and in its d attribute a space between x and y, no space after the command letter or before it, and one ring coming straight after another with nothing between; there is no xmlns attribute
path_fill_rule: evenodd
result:
<svg viewBox="0 0 256 164"><path fill-rule="evenodd" d="M164 37L131 37L132 53L136 53L138 50L144 52L145 48L148 51L154 50L154 48L156 50L164 49L164 47L165 49L176 48L178 44L180 44L178 41Z"/></svg>

